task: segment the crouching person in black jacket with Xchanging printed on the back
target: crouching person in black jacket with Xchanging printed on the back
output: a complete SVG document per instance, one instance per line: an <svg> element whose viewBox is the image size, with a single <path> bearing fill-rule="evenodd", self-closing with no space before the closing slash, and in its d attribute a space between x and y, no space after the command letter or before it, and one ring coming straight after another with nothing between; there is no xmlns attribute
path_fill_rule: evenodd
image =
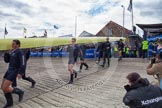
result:
<svg viewBox="0 0 162 108"><path fill-rule="evenodd" d="M127 93L123 98L130 108L162 108L162 91L159 87L149 84L146 78L138 73L127 76L129 84L125 86Z"/></svg>

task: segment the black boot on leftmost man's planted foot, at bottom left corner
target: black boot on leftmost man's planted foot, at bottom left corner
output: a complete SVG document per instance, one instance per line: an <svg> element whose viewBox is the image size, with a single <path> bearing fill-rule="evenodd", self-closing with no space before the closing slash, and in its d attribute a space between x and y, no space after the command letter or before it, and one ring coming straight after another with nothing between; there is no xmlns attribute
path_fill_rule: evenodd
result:
<svg viewBox="0 0 162 108"><path fill-rule="evenodd" d="M3 106L2 108L9 108L13 106L13 98L11 93L5 93L5 98L6 98L6 105Z"/></svg>

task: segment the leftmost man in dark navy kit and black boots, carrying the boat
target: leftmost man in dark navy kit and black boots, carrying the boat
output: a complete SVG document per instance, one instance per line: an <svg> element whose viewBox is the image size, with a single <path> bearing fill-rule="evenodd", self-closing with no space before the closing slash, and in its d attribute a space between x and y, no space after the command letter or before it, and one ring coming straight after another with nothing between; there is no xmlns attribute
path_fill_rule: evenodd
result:
<svg viewBox="0 0 162 108"><path fill-rule="evenodd" d="M7 72L4 75L1 89L4 92L6 98L6 105L3 108L8 108L13 105L12 93L17 94L19 96L19 102L23 100L24 91L19 88L11 87L12 83L18 79L22 78L22 75L25 73L25 56L22 51L19 49L20 41L13 40L12 42L12 50L5 53L4 61L9 63L9 67Z"/></svg>

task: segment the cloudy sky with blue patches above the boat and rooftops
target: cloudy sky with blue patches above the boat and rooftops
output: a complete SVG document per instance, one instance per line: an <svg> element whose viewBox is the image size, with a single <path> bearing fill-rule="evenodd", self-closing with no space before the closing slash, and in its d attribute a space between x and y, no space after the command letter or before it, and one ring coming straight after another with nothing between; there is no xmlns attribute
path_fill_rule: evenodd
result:
<svg viewBox="0 0 162 108"><path fill-rule="evenodd" d="M127 11L129 0L0 0L0 38L7 24L8 38L22 38L23 28L27 36L53 37L83 30L96 34L110 20L122 25L122 7L126 8L125 26L131 29L131 13ZM134 0L134 22L142 24L162 22L162 0ZM59 27L54 30L53 25Z"/></svg>

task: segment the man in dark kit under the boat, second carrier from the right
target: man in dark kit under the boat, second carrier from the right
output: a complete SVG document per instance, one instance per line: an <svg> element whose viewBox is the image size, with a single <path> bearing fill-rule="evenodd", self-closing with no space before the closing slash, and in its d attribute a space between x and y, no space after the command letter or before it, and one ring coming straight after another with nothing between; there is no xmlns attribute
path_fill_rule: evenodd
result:
<svg viewBox="0 0 162 108"><path fill-rule="evenodd" d="M106 42L103 43L103 64L102 67L106 64L106 59L108 63L108 67L110 66L110 56L111 56L111 43L109 42L109 38L106 38Z"/></svg>

